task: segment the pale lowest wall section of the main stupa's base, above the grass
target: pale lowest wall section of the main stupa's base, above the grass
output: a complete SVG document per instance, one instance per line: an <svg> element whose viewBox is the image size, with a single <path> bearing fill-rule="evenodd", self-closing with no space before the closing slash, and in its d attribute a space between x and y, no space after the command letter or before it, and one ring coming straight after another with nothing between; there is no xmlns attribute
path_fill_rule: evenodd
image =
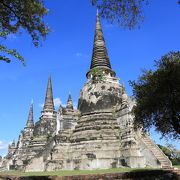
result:
<svg viewBox="0 0 180 180"><path fill-rule="evenodd" d="M103 169L121 166L119 141L87 141L58 144L46 170ZM113 147L113 150L112 150Z"/></svg>

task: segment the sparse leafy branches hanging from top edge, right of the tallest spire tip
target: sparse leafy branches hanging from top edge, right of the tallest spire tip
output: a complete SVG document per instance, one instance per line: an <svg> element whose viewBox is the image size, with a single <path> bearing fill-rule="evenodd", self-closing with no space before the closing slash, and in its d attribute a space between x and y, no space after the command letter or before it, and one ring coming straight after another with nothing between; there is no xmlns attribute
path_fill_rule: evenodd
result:
<svg viewBox="0 0 180 180"><path fill-rule="evenodd" d="M100 15L109 22L133 28L143 21L143 5L147 0L91 0Z"/></svg>

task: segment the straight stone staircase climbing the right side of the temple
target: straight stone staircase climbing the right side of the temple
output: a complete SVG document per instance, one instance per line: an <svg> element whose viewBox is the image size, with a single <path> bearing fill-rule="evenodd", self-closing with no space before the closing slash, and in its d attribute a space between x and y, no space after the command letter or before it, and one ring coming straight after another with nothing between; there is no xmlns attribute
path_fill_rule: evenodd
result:
<svg viewBox="0 0 180 180"><path fill-rule="evenodd" d="M160 162L161 168L168 169L172 167L172 163L169 158L162 152L162 150L151 140L151 138L147 134L142 134L142 141Z"/></svg>

